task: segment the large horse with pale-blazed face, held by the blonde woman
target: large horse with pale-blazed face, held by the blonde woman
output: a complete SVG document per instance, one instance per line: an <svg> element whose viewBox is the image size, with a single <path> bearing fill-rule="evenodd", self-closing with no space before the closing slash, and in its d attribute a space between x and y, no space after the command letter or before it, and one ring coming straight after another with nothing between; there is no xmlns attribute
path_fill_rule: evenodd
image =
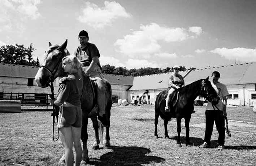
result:
<svg viewBox="0 0 256 166"><path fill-rule="evenodd" d="M66 46L68 44L68 40L66 40L61 46L54 45L51 46L51 43L49 42L49 46L51 46L46 54L44 64L42 67L39 68L35 80L39 87L46 88L49 86L49 79L50 76L53 76L54 79L57 77L62 77L65 75L63 69L61 68L61 61L62 58L69 55L68 50L66 49ZM99 148L99 123L96 119L96 113L95 113L95 105L97 103L96 99L96 89L93 88L93 82L91 82L89 77L83 77L83 94L81 97L81 107L83 111L83 126L82 126L82 133L81 133L81 139L83 142L83 155L82 155L82 162L88 162L88 149L87 149L87 139L88 139L88 133L87 133L87 125L88 125L88 118L90 117L93 123L93 127L95 130L95 142L93 145L94 149ZM112 107L112 90L111 85L107 80L104 79L104 85L105 85L105 94L106 94L106 100L107 100L107 106L105 108L109 124L106 127L106 137L105 137L105 146L110 146L110 137L109 137L109 126L110 126L110 109ZM102 127L102 126L101 126ZM63 157L63 156L62 156Z"/></svg>

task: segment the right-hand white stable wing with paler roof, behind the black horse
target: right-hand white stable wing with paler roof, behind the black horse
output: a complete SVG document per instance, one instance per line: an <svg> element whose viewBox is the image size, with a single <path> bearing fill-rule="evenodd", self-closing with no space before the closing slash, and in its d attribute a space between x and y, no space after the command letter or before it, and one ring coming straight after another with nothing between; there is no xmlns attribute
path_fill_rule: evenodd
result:
<svg viewBox="0 0 256 166"><path fill-rule="evenodd" d="M220 82L227 86L229 91L228 104L249 106L256 101L256 63L241 63L225 66L216 66L195 69L185 77L185 85L188 85L201 78L211 77L213 71L221 74ZM179 72L185 76L188 71ZM129 89L130 98L128 101L140 97L147 89L148 100L155 103L156 96L167 89L168 78L172 73L161 73L155 75L134 77L133 86ZM146 96L145 96L146 97Z"/></svg>

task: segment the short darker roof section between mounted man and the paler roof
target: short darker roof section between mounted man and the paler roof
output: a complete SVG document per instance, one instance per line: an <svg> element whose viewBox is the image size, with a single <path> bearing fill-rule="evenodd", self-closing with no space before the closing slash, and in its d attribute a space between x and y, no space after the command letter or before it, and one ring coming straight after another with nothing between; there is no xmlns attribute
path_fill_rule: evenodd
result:
<svg viewBox="0 0 256 166"><path fill-rule="evenodd" d="M103 74L104 78L109 81L110 84L116 85L133 85L132 76L122 76L122 75L112 75L112 74Z"/></svg>

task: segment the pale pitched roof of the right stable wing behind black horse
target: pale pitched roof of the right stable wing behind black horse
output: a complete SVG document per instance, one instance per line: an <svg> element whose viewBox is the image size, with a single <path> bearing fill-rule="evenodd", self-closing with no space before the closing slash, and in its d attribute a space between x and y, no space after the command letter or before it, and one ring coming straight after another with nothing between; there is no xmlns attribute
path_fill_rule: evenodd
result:
<svg viewBox="0 0 256 166"><path fill-rule="evenodd" d="M185 80L185 85L188 85L201 78L211 77L213 71L218 71L221 74L220 81L225 85L237 84L255 84L256 63L241 63L224 66L205 67L191 71ZM188 71L179 72L185 76ZM144 89L165 89L167 88L168 78L172 73L161 73L155 75L134 77L133 86L130 90Z"/></svg>

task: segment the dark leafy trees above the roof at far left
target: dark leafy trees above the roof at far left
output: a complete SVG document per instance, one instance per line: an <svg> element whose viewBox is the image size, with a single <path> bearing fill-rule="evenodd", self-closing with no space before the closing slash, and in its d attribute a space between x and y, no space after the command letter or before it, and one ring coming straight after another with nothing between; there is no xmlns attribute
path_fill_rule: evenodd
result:
<svg viewBox="0 0 256 166"><path fill-rule="evenodd" d="M35 61L32 58L32 52L35 49L32 44L28 48L24 45L4 45L0 47L0 63L21 64L27 66L39 66L39 59Z"/></svg>

